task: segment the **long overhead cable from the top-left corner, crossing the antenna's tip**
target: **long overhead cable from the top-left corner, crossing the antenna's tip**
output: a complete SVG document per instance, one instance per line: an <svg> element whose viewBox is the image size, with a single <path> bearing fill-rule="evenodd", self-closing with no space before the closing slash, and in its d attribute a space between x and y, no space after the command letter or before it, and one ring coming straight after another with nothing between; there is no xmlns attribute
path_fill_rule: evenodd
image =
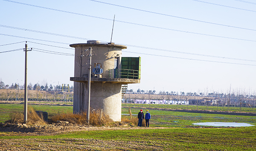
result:
<svg viewBox="0 0 256 151"><path fill-rule="evenodd" d="M12 2L12 3L18 3L18 4L23 4L23 5L28 5L28 6L34 6L34 7L38 7L38 8L45 8L45 9L49 9L49 10L53 10L53 11L61 11L61 12L70 13L70 14L77 14L77 15L82 15L82 16L87 16L87 17L93 17L93 18L98 18L98 19L102 19L102 20L111 20L111 21L113 21L112 19L108 19L108 18L96 17L96 16L85 15L85 14L80 14L80 13L74 13L74 12L70 12L70 11L62 11L62 10L53 9L53 8L47 8L47 7L42 7L42 6L35 6L35 5L15 2L15 1L11 1L11 0L4 0L4 1L8 1L8 2ZM218 37L218 38L227 38L227 39L236 39L236 40L256 42L256 40L232 38L232 37L217 36L217 35L211 35L211 34L202 34L202 33L190 32L190 31L181 31L181 30L176 30L176 29L171 29L171 28L163 28L163 27L157 27L157 26L152 26L152 25L144 25L144 24L133 23L133 22L125 22L125 21L121 21L121 20L115 20L115 22L122 22L122 23L127 23L127 24L132 24L132 25L140 25L140 26L164 29L164 30L169 30L169 31L178 31L178 32L189 33L189 34L197 34L197 35L212 36L212 37ZM44 33L44 34L46 34L46 33Z"/></svg>

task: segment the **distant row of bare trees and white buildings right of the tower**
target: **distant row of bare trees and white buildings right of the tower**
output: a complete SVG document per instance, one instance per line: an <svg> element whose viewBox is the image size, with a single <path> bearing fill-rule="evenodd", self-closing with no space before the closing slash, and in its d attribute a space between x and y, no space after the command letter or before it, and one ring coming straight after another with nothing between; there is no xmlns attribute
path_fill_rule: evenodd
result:
<svg viewBox="0 0 256 151"><path fill-rule="evenodd" d="M139 100L140 103L145 103L145 100L149 100L150 103L167 103L186 104L186 105L203 105L203 106L239 106L239 107L256 107L256 93L236 90L227 93L208 93L204 96L203 93L196 95L196 93L181 93L172 94L165 91L160 91L157 94L154 93L128 93L125 95L124 103L135 103ZM175 102L177 101L177 102Z"/></svg>

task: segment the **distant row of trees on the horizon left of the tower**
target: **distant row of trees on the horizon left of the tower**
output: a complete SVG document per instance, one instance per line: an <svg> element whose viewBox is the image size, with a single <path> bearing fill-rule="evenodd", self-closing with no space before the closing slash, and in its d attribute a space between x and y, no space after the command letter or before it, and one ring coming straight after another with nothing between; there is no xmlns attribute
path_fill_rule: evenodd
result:
<svg viewBox="0 0 256 151"><path fill-rule="evenodd" d="M48 83L46 82L46 84L40 85L39 83L36 83L34 85L32 85L32 83L28 84L28 90L42 90L42 91L73 91L73 86L69 86L69 84L62 84L62 85L56 85L56 86L52 86L52 84L50 84L48 86ZM24 84L22 86L20 86L19 84L15 83L11 86L9 86L8 84L4 84L4 82L2 80L0 80L0 89L24 89Z"/></svg>

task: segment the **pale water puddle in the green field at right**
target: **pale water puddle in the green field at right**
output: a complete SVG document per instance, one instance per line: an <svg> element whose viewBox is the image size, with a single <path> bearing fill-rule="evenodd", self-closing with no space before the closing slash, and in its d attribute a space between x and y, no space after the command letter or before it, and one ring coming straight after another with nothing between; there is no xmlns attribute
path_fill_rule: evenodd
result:
<svg viewBox="0 0 256 151"><path fill-rule="evenodd" d="M224 127L244 127L244 126L254 126L249 123L236 123L236 122L204 122L204 123L193 123L198 126L224 126Z"/></svg>

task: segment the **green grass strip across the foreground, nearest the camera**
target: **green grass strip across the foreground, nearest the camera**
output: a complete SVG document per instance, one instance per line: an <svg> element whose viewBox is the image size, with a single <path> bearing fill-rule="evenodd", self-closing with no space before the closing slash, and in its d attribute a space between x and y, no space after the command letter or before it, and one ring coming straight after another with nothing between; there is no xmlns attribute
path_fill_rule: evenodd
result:
<svg viewBox="0 0 256 151"><path fill-rule="evenodd" d="M128 149L123 144L137 144L128 150L173 151L253 151L256 149L256 127L223 129L133 129L108 131L79 131L52 136L0 136L0 139L36 139L37 142L70 143L81 145L88 140L119 143L118 149ZM91 149L97 149L97 145ZM106 145L106 144L105 144ZM102 145L100 145L102 146ZM136 146L136 145L135 145ZM140 147L144 146L144 147ZM154 149L151 148L154 146ZM111 149L110 149L111 150Z"/></svg>

